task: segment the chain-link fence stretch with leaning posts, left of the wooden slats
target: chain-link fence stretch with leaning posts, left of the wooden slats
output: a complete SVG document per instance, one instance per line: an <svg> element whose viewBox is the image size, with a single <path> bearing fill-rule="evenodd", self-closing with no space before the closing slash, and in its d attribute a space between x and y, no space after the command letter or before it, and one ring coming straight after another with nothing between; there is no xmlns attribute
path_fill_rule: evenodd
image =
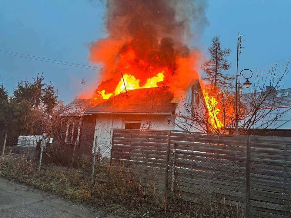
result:
<svg viewBox="0 0 291 218"><path fill-rule="evenodd" d="M2 145L3 157L4 154L16 158L25 156L28 161L38 164L39 170L41 165L66 171L70 168L95 178L110 166L111 144L95 143L93 146L93 142L86 142L84 146L81 140L80 143L66 144L53 138L50 140L48 134L8 136L6 140L9 143L5 147ZM95 152L92 153L92 149Z"/></svg>

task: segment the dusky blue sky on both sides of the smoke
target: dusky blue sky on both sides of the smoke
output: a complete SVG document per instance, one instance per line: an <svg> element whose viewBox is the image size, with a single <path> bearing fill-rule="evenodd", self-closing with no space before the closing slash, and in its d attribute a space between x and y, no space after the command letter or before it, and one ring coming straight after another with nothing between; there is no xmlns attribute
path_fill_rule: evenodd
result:
<svg viewBox="0 0 291 218"><path fill-rule="evenodd" d="M103 25L105 1L96 1L93 5L89 2L2 0L0 49L89 65L90 42L106 35ZM207 54L211 38L218 34L222 46L232 51L228 60L232 63L230 73L235 74L236 42L238 31L241 31L246 35L243 42L246 48L240 56L239 70L269 68L270 63L291 58L290 8L289 0L209 0L206 9L209 24L201 39L192 46ZM260 67L262 65L266 66ZM92 70L0 53L0 83L10 93L16 87L16 80L31 81L42 72L45 82L55 84L59 89L59 100L65 103L80 92L82 79L88 81L87 86L89 81L96 83L98 79L98 72ZM291 87L290 79L288 74L282 82L284 88Z"/></svg>

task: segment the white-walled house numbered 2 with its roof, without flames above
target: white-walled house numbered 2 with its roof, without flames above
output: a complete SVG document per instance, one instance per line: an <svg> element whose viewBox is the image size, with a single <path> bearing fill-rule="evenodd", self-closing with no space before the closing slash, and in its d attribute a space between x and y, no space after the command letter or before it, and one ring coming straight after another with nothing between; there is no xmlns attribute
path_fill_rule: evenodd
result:
<svg viewBox="0 0 291 218"><path fill-rule="evenodd" d="M170 90L169 86L129 90L87 109L85 114L95 115L94 143L102 155L110 156L114 128L181 130L175 123L183 114L181 98L191 101L197 112L205 104L198 79L185 96L175 96Z"/></svg>

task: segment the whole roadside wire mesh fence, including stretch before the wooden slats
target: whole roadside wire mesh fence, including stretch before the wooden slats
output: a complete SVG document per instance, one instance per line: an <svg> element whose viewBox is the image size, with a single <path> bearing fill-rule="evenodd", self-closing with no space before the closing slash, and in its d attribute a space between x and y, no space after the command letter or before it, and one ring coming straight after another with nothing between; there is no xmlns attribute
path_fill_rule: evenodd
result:
<svg viewBox="0 0 291 218"><path fill-rule="evenodd" d="M147 190L143 195L171 204L210 203L250 217L291 216L291 137L114 129L112 144L87 143L89 153L81 144L36 137L18 137L6 153L82 170L92 181L106 175L111 183L138 183ZM110 177L112 170L126 176Z"/></svg>

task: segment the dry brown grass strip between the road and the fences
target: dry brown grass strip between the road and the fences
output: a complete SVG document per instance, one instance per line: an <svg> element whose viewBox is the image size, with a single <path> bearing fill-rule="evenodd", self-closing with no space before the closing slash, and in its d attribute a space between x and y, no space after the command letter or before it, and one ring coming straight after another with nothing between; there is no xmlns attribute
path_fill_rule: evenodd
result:
<svg viewBox="0 0 291 218"><path fill-rule="evenodd" d="M106 174L108 182L91 184L89 178L80 177L78 173L67 174L59 170L42 170L38 173L37 167L25 157L0 161L0 177L25 183L73 202L89 203L123 217L142 217L148 211L144 218L244 217L242 211L234 215L231 209L221 208L214 203L202 206L181 199L170 206L166 200L157 197L154 189L141 186L128 173L117 173L110 169L102 173Z"/></svg>

